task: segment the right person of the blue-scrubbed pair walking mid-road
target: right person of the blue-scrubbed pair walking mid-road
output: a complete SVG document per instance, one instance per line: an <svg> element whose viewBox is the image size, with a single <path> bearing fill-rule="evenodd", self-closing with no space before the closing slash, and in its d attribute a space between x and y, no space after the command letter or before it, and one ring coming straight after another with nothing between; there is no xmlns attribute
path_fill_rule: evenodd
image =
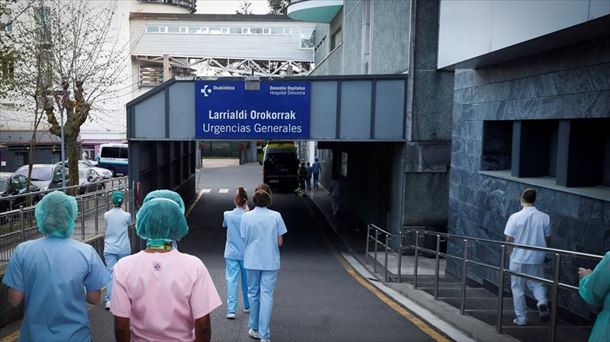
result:
<svg viewBox="0 0 610 342"><path fill-rule="evenodd" d="M286 234L282 215L268 207L271 193L268 186L259 186L252 197L255 208L243 214L240 225L245 239L244 267L248 274L250 319L248 335L263 342L271 341L271 309L273 290L280 269L280 247Z"/></svg>

